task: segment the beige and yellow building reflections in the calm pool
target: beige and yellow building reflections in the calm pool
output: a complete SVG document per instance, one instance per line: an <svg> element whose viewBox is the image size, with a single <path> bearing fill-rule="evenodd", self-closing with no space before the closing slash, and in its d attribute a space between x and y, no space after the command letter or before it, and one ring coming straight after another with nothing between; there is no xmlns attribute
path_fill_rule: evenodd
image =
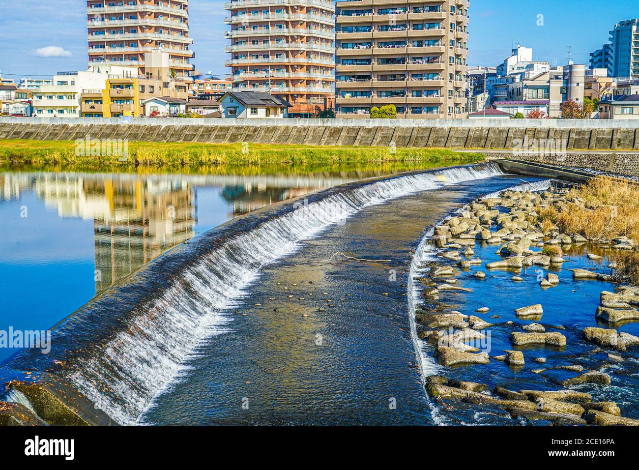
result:
<svg viewBox="0 0 639 470"><path fill-rule="evenodd" d="M223 221L358 176L8 172L0 173L0 201L18 200L32 192L61 218L93 220L95 288L99 293L199 230L206 230L197 226L199 188L219 192L220 207L204 205L201 210L204 214L220 213Z"/></svg>

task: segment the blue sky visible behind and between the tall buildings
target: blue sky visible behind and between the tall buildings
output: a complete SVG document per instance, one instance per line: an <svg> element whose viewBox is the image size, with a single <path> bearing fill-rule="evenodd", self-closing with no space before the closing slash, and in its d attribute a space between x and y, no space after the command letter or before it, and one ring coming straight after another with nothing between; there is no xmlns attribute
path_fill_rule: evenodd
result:
<svg viewBox="0 0 639 470"><path fill-rule="evenodd" d="M189 9L197 70L227 73L224 0L191 0ZM616 22L639 17L639 6L637 0L472 0L469 13L470 65L497 65L513 41L533 47L535 60L563 64L568 45L576 63L587 63ZM86 1L0 0L0 45L6 77L86 69Z"/></svg>

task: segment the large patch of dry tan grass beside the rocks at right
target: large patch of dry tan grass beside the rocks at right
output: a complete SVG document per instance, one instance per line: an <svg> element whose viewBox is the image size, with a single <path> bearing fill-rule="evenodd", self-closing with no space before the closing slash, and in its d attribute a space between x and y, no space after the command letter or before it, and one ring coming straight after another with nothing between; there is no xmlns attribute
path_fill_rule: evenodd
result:
<svg viewBox="0 0 639 470"><path fill-rule="evenodd" d="M570 192L584 205L568 203L558 210L540 210L539 221L551 221L562 233L579 233L590 240L628 237L639 240L639 187L598 176Z"/></svg>

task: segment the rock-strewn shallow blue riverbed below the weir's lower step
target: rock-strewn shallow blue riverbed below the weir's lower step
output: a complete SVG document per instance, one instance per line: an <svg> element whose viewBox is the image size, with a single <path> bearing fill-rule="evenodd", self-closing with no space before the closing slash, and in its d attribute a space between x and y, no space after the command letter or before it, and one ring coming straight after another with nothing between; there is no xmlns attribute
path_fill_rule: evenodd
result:
<svg viewBox="0 0 639 470"><path fill-rule="evenodd" d="M639 287L614 261L635 240L541 223L583 203L564 189L491 196L438 224L420 266L415 322L442 423L639 425Z"/></svg>

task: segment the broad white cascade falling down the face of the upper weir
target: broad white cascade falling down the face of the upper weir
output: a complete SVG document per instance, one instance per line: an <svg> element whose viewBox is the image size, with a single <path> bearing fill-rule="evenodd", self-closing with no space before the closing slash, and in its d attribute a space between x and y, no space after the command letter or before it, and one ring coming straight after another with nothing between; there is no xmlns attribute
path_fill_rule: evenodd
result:
<svg viewBox="0 0 639 470"><path fill-rule="evenodd" d="M203 255L162 292L140 306L135 320L90 359L79 359L69 379L96 407L122 425L134 424L153 398L184 371L204 338L227 331L225 315L260 267L293 253L332 223L362 208L442 185L500 175L495 165L378 180L297 207L265 221Z"/></svg>

